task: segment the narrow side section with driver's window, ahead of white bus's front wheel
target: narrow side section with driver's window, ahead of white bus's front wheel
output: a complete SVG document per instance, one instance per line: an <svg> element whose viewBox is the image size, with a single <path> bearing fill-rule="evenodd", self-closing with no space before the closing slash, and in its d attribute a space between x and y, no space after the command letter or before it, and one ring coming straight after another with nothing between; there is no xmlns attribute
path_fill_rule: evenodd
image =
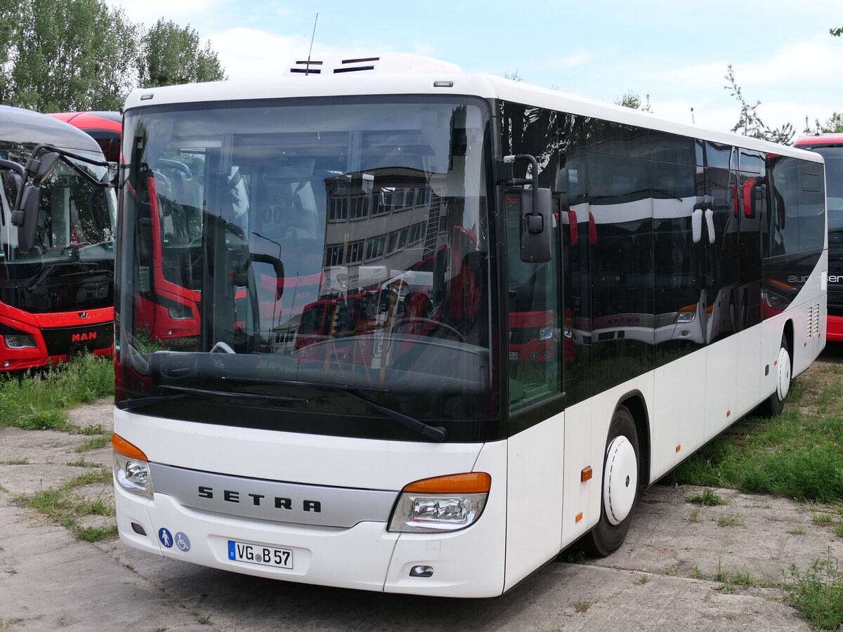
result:
<svg viewBox="0 0 843 632"><path fill-rule="evenodd" d="M551 260L520 256L520 191L505 194L509 435L506 587L558 553L561 543L564 413L561 394L560 218L554 201ZM536 423L536 416L544 420ZM535 485L542 480L542 485ZM557 525L558 528L551 528Z"/></svg>

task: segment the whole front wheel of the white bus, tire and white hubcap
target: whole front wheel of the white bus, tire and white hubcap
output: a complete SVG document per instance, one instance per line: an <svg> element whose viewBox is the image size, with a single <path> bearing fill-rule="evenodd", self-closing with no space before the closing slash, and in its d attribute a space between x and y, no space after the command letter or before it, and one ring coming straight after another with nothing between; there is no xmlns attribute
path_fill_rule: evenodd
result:
<svg viewBox="0 0 843 632"><path fill-rule="evenodd" d="M615 410L604 454L600 520L583 541L588 553L600 557L620 549L638 500L638 432L626 406Z"/></svg>

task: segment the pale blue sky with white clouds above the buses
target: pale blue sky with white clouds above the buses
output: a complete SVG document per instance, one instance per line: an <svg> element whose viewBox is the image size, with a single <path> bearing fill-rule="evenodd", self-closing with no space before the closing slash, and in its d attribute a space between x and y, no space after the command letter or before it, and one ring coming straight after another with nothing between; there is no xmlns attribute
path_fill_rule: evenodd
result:
<svg viewBox="0 0 843 632"><path fill-rule="evenodd" d="M271 78L293 58L432 56L591 99L650 95L657 115L728 130L728 64L768 126L843 112L840 0L107 0L150 26L161 17L210 40L229 78Z"/></svg>

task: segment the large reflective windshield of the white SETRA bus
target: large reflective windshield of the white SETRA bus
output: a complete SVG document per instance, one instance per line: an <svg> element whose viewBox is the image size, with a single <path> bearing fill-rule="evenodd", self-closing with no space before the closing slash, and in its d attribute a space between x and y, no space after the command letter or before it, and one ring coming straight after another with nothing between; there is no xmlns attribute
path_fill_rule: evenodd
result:
<svg viewBox="0 0 843 632"><path fill-rule="evenodd" d="M127 111L118 400L490 415L487 122L410 97Z"/></svg>

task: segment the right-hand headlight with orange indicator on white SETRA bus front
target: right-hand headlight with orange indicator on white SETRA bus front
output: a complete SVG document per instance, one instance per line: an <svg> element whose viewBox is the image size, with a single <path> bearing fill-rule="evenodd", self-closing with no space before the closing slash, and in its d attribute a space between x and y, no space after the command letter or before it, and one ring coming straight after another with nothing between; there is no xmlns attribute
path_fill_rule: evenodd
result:
<svg viewBox="0 0 843 632"><path fill-rule="evenodd" d="M491 476L485 472L417 480L401 490L389 531L429 533L469 527L481 516L490 487Z"/></svg>

